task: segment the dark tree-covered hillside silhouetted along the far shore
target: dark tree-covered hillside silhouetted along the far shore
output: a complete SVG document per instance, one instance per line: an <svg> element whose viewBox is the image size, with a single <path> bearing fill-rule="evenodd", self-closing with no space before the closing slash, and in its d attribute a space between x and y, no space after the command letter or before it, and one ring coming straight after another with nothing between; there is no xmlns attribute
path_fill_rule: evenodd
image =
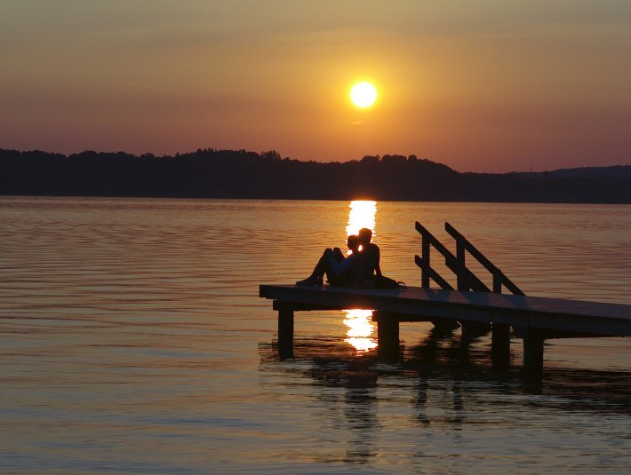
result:
<svg viewBox="0 0 631 475"><path fill-rule="evenodd" d="M415 155L322 163L212 148L161 157L0 149L0 194L631 203L631 166L491 174Z"/></svg>

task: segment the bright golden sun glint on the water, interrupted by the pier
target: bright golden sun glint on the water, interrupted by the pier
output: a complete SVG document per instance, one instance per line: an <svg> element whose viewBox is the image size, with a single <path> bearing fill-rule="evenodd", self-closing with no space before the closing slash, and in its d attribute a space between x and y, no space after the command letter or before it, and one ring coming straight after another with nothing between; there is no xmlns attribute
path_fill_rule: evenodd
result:
<svg viewBox="0 0 631 475"><path fill-rule="evenodd" d="M350 202L347 236L357 234L360 229L367 227L371 229L374 237L376 214L377 202L363 200ZM377 348L377 340L373 337L375 325L372 323L372 311L348 309L344 313L344 324L348 327L347 338L344 341L352 344L357 352L368 352Z"/></svg>

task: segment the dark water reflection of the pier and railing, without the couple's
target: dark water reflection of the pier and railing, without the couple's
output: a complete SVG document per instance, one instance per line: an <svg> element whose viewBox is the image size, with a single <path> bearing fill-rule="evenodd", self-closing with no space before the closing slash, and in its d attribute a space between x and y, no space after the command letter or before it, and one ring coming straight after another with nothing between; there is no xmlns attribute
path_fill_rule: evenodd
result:
<svg viewBox="0 0 631 475"><path fill-rule="evenodd" d="M419 423L451 428L466 420L469 404L493 407L498 400L489 398L490 393L510 396L502 398L502 404L504 409L515 405L515 413L528 404L631 415L631 375L626 372L550 365L547 377L535 382L519 368L494 371L479 343L459 331L434 328L392 360L376 352L349 352L336 336L300 338L292 360L283 360L276 344L261 343L260 370L287 375L298 370L323 388L391 388L411 402ZM432 411L427 411L427 404Z"/></svg>

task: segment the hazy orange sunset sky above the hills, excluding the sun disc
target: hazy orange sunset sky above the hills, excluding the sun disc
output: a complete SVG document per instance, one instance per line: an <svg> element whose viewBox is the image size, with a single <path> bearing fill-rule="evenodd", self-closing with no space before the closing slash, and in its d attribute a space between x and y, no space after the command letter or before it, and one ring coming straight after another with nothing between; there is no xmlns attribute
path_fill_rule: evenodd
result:
<svg viewBox="0 0 631 475"><path fill-rule="evenodd" d="M631 164L629 0L2 0L0 59L0 148Z"/></svg>

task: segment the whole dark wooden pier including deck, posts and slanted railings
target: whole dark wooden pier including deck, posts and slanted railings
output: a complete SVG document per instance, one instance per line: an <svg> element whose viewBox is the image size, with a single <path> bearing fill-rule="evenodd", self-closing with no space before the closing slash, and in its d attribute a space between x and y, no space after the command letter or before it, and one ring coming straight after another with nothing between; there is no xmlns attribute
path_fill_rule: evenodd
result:
<svg viewBox="0 0 631 475"><path fill-rule="evenodd" d="M510 328L523 338L523 368L528 373L543 369L543 343L549 338L631 336L631 305L604 304L547 297L526 297L491 261L475 249L448 223L445 228L457 244L456 254L416 224L422 235L422 287L406 289L353 289L345 287L300 287L295 285L261 285L260 297L274 300L278 312L278 347L283 357L293 351L294 313L309 310L373 310L378 328L378 351L395 354L399 348L399 323L432 321L435 325L453 325L458 321L467 328L485 326L492 329L491 361L493 368L510 367ZM453 289L430 266L430 245L445 258L456 274ZM488 289L465 264L466 251L475 257L493 277ZM442 289L430 289L430 280ZM513 295L501 294L509 289Z"/></svg>

